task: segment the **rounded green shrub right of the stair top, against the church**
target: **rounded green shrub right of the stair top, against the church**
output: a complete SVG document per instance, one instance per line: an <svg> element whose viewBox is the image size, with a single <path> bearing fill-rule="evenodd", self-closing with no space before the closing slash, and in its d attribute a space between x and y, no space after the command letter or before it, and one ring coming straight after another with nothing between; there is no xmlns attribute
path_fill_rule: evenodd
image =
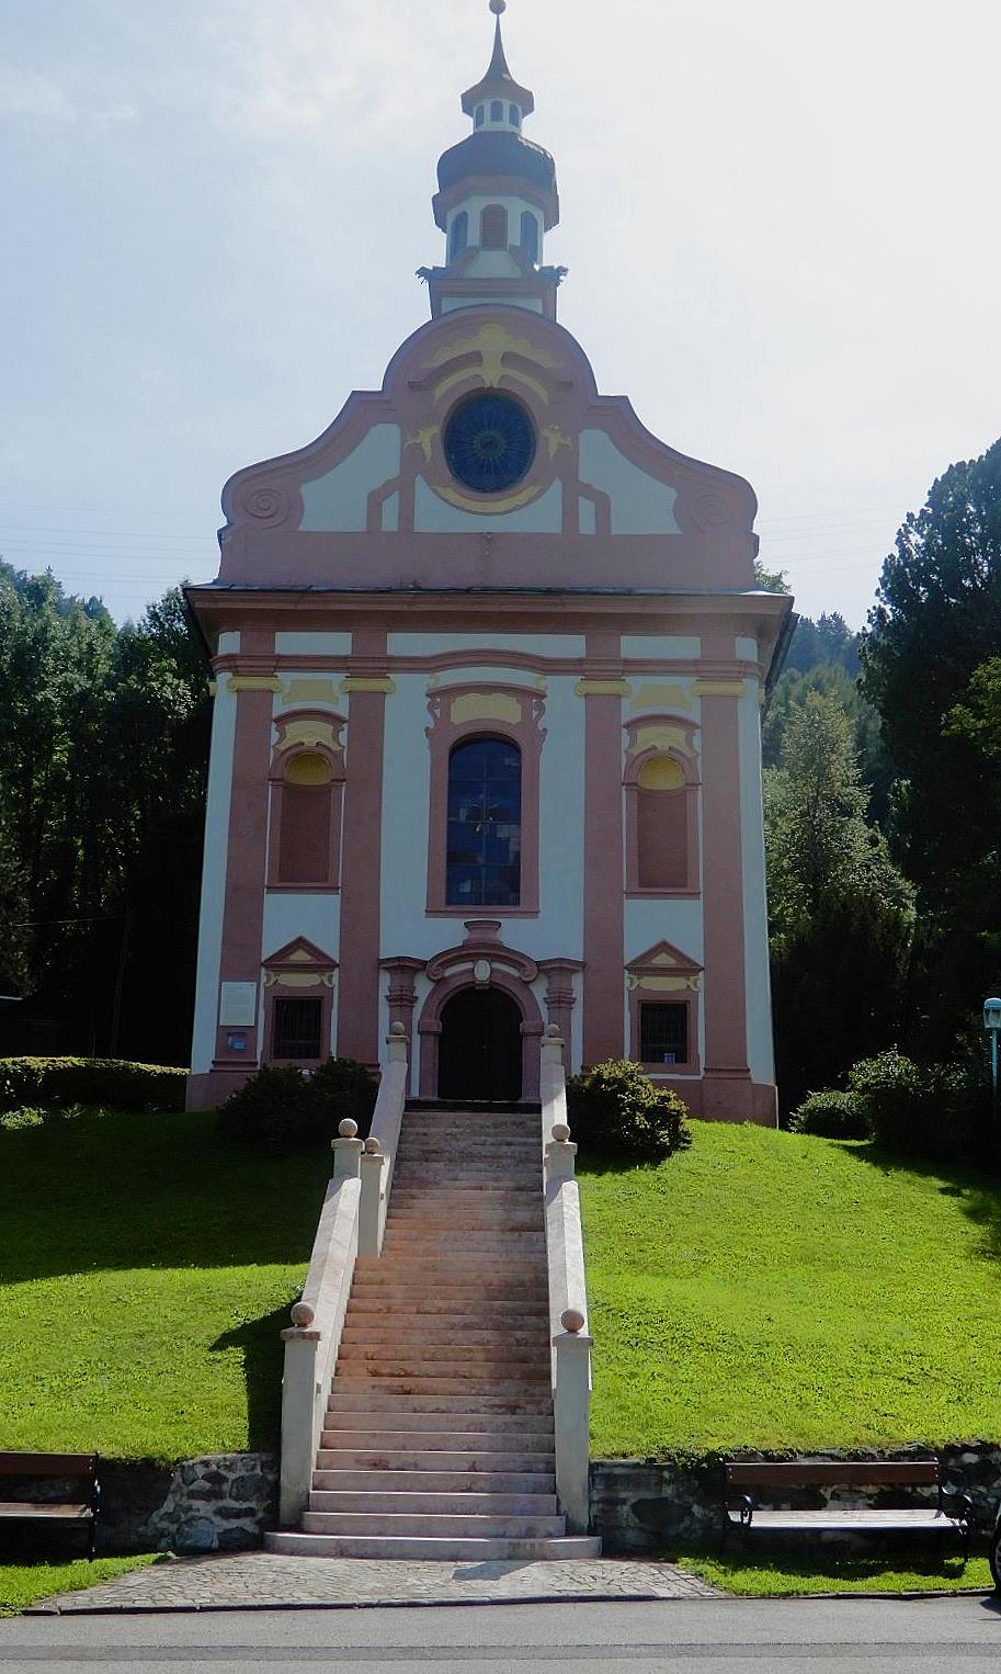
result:
<svg viewBox="0 0 1001 1674"><path fill-rule="evenodd" d="M572 1137L596 1155L661 1162L691 1145L685 1101L626 1058L567 1081L567 1108Z"/></svg>

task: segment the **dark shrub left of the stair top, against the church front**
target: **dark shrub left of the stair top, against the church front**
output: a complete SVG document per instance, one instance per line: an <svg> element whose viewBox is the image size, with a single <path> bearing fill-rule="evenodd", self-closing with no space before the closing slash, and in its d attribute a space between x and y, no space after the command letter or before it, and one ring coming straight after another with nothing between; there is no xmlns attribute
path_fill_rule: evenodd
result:
<svg viewBox="0 0 1001 1674"><path fill-rule="evenodd" d="M345 1117L365 1138L377 1091L375 1076L353 1058L328 1058L313 1075L266 1065L219 1105L219 1127L270 1155L335 1138Z"/></svg>

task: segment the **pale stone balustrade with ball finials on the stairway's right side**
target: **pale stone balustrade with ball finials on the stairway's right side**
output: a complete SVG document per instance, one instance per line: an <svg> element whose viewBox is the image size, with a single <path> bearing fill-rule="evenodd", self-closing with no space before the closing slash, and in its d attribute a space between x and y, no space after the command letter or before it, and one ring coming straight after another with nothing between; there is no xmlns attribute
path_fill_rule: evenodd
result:
<svg viewBox="0 0 1001 1674"><path fill-rule="evenodd" d="M578 1147L566 1120L562 1041L542 1040L542 1192L549 1269L549 1336L552 1343L552 1413L556 1493L571 1533L589 1525L591 1336L581 1192L574 1180Z"/></svg>

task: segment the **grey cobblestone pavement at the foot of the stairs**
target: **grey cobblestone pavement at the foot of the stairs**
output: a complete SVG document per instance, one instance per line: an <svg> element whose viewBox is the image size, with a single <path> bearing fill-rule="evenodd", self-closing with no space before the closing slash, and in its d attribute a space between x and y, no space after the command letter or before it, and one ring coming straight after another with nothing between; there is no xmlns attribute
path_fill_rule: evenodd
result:
<svg viewBox="0 0 1001 1674"><path fill-rule="evenodd" d="M45 1599L28 1614L713 1597L713 1587L673 1564L626 1558L390 1564L375 1558L298 1558L249 1552L239 1557L167 1558L84 1592Z"/></svg>

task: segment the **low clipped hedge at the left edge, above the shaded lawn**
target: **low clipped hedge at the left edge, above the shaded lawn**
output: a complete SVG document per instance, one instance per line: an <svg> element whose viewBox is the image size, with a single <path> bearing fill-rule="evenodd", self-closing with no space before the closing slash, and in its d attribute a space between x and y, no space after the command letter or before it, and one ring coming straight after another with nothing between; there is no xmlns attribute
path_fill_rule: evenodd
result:
<svg viewBox="0 0 1001 1674"><path fill-rule="evenodd" d="M0 1110L92 1105L184 1110L187 1070L121 1058L0 1058Z"/></svg>

